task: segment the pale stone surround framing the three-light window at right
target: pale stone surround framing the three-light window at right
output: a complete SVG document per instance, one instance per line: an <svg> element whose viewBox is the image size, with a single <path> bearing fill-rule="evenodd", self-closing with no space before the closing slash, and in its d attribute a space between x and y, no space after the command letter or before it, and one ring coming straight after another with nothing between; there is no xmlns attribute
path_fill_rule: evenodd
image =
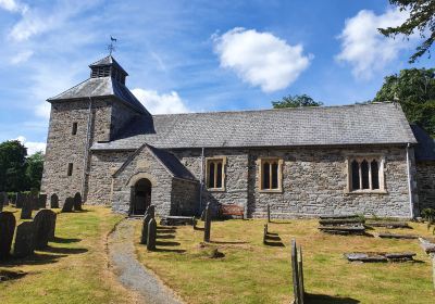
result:
<svg viewBox="0 0 435 304"><path fill-rule="evenodd" d="M378 178L380 178L380 189L358 189L352 190L352 172L351 172L351 163L357 161L358 163L362 163L362 161L366 161L369 163L369 187L372 188L372 166L370 163L372 161L377 161L378 164ZM347 186L345 189L345 194L386 194L388 191L385 186L385 156L380 154L357 154L349 155L346 157L346 172L347 172Z"/></svg>

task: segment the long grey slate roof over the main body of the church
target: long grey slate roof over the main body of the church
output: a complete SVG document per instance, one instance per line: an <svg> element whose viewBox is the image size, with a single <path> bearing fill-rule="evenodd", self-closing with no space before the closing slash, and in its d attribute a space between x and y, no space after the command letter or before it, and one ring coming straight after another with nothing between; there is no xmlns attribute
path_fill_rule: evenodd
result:
<svg viewBox="0 0 435 304"><path fill-rule="evenodd" d="M152 134L139 134L92 150L415 143L396 103L243 112L154 115ZM132 126L138 128L140 126Z"/></svg>

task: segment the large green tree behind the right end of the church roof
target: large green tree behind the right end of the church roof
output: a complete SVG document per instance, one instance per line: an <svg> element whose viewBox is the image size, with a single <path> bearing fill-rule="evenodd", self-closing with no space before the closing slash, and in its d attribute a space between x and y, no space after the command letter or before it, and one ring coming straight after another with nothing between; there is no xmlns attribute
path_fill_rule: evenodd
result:
<svg viewBox="0 0 435 304"><path fill-rule="evenodd" d="M411 123L435 137L435 68L402 69L385 77L373 101L397 100Z"/></svg>

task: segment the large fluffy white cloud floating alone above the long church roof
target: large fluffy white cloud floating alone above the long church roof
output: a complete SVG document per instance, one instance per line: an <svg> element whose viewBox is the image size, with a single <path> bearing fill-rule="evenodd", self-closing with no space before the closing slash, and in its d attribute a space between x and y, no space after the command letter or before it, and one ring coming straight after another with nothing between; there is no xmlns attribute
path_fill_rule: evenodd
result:
<svg viewBox="0 0 435 304"><path fill-rule="evenodd" d="M239 78L265 92L294 83L310 64L301 45L290 46L271 33L236 27L213 36L221 66L235 71Z"/></svg>

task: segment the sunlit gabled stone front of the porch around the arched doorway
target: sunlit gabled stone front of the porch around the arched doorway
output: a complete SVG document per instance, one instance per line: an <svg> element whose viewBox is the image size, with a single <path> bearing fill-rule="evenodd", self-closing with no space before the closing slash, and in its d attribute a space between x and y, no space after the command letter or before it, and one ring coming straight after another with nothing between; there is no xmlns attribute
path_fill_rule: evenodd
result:
<svg viewBox="0 0 435 304"><path fill-rule="evenodd" d="M151 204L158 215L171 214L172 175L145 147L135 152L127 163L114 175L112 210L128 213L132 187L141 179L151 181Z"/></svg>

